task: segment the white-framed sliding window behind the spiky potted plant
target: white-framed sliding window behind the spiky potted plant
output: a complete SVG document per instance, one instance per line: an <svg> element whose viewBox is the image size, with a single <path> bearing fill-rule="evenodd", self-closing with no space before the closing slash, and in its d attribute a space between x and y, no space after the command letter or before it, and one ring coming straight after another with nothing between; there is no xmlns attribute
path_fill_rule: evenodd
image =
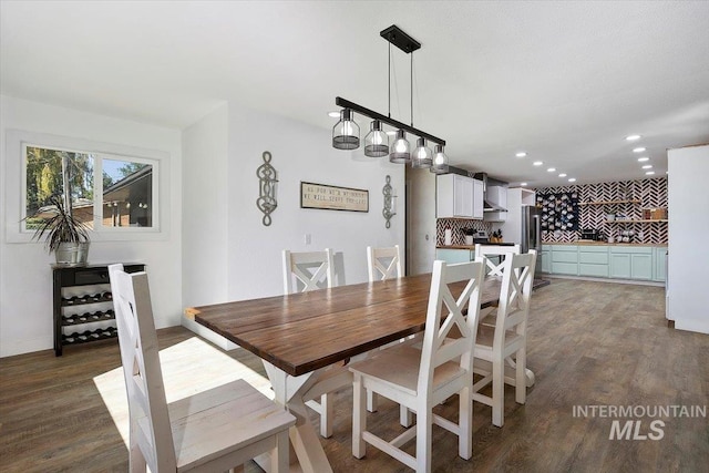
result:
<svg viewBox="0 0 709 473"><path fill-rule="evenodd" d="M123 144L8 130L0 160L8 243L32 241L52 195L97 241L168 238L169 153Z"/></svg>

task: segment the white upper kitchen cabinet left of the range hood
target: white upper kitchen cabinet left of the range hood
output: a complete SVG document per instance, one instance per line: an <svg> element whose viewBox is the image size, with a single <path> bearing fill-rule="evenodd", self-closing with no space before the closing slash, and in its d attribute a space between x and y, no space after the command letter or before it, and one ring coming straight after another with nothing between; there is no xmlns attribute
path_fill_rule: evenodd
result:
<svg viewBox="0 0 709 473"><path fill-rule="evenodd" d="M483 218L482 181L458 174L443 174L435 181L438 218Z"/></svg>

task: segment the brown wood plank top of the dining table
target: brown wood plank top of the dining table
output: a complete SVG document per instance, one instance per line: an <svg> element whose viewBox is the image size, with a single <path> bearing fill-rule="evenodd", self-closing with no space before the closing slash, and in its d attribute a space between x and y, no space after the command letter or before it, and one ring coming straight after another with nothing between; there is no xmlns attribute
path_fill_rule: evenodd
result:
<svg viewBox="0 0 709 473"><path fill-rule="evenodd" d="M497 278L485 279L481 307L497 302L500 285ZM194 307L185 313L288 374L300 376L423 331L430 286L427 274ZM464 286L451 285L452 294Z"/></svg>

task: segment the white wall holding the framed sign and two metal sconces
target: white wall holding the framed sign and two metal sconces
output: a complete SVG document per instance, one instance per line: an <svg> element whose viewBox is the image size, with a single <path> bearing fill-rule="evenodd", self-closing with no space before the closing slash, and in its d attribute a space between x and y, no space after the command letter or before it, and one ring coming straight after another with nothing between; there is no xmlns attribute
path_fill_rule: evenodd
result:
<svg viewBox="0 0 709 473"><path fill-rule="evenodd" d="M363 135L361 136L363 138ZM228 163L228 270L230 299L282 294L281 250L312 251L332 248L341 253L345 280L367 280L366 247L404 246L403 199L397 200L391 228L382 217L386 176L399 196L403 194L404 168L387 158L352 160L352 153L332 148L331 132L264 112L229 104ZM263 153L271 153L278 173L278 208L273 223L261 224L256 207L259 181L256 169ZM361 153L361 150L360 150ZM300 182L312 182L369 191L369 212L300 208ZM305 244L305 235L311 244ZM336 258L337 265L337 258Z"/></svg>

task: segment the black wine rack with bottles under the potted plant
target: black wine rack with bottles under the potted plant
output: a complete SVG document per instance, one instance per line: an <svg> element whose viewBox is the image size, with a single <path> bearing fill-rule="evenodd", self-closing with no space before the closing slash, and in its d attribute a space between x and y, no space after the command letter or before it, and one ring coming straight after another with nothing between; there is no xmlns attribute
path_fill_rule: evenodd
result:
<svg viewBox="0 0 709 473"><path fill-rule="evenodd" d="M145 270L143 264L124 264L126 273ZM115 339L113 296L109 265L52 266L54 305L54 354L63 347Z"/></svg>

